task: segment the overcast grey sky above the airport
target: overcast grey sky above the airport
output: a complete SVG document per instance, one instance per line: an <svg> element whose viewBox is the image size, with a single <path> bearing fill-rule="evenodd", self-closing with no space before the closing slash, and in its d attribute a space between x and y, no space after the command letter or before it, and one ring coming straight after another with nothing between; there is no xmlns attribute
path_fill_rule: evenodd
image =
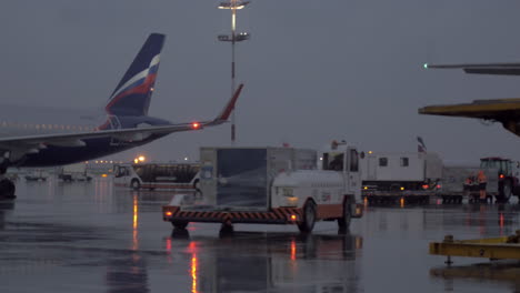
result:
<svg viewBox="0 0 520 293"><path fill-rule="evenodd" d="M4 0L2 102L104 104L150 32L167 34L150 114L210 119L230 95L230 13L218 1ZM429 151L447 160L520 159L520 138L499 124L419 115L428 104L520 97L520 78L426 71L424 62L520 61L520 2L491 0L252 0L238 27L242 145ZM229 143L229 125L178 133L119 158L198 155Z"/></svg>

